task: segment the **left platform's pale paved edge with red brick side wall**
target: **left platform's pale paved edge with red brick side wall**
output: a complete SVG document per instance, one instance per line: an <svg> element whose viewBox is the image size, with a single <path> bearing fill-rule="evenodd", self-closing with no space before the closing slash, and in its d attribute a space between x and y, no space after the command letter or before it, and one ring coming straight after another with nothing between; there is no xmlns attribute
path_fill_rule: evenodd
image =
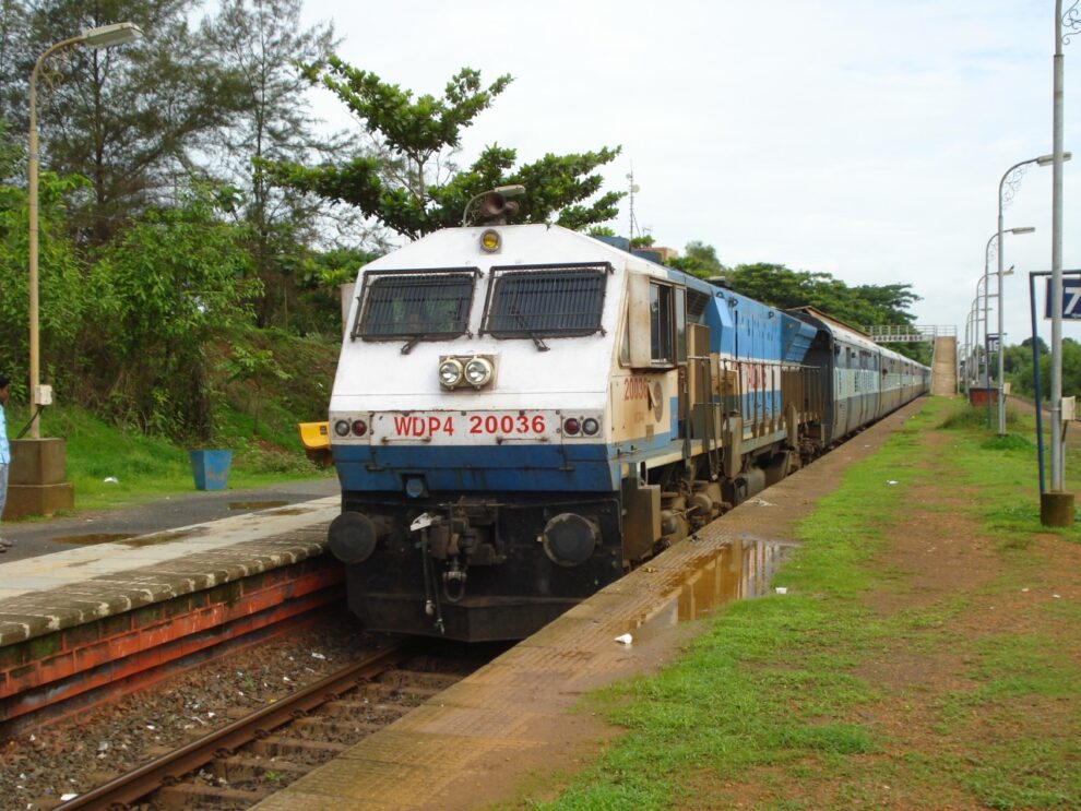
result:
<svg viewBox="0 0 1081 811"><path fill-rule="evenodd" d="M338 510L331 496L0 561L0 724L76 712L341 601L323 554Z"/></svg>

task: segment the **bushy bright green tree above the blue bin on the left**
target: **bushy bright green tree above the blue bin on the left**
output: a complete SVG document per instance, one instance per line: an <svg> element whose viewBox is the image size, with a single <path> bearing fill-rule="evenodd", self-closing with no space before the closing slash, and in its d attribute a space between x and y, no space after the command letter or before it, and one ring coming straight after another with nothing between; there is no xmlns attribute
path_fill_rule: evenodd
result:
<svg viewBox="0 0 1081 811"><path fill-rule="evenodd" d="M206 348L250 322L259 281L246 235L197 188L105 246L88 279L84 402L120 424L176 437L211 429Z"/></svg>

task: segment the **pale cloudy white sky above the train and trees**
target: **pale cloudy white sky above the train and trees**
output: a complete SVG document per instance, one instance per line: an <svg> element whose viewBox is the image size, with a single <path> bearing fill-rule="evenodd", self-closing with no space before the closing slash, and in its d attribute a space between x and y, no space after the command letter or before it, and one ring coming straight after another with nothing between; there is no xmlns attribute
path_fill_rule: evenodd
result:
<svg viewBox="0 0 1081 811"><path fill-rule="evenodd" d="M486 83L514 76L465 131L463 165L491 143L520 162L620 145L605 188L627 190L633 171L634 217L657 245L911 284L916 323L963 341L999 182L1053 148L1054 17L1054 0L306 0L302 20L332 23L343 59L417 94L441 95L466 65ZM1065 148L1079 159L1065 165L1062 255L1081 269L1081 33L1064 52ZM355 128L326 91L312 110ZM1007 198L1005 228L1036 228L1003 237L1017 344L1031 334L1027 274L1050 269L1050 167ZM609 225L629 222L625 199ZM1049 341L1049 322L1038 330ZM1064 335L1081 341L1081 324Z"/></svg>

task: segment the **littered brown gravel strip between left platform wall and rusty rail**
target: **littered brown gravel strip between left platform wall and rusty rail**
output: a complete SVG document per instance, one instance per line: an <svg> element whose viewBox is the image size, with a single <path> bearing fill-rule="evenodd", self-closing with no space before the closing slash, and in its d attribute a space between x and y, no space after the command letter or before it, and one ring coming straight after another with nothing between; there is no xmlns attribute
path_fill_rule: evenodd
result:
<svg viewBox="0 0 1081 811"><path fill-rule="evenodd" d="M344 611L44 729L0 741L0 807L45 811L341 669L385 637Z"/></svg>

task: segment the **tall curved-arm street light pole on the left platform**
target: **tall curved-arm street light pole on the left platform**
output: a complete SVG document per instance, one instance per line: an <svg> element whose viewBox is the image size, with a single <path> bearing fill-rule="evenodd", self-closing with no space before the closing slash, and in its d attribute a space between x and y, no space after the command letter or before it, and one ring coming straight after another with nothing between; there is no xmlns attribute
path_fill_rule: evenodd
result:
<svg viewBox="0 0 1081 811"><path fill-rule="evenodd" d="M38 330L38 228L37 228L37 75L41 71L45 61L57 51L69 46L86 45L91 48L109 48L114 45L129 43L142 36L142 31L134 23L117 23L116 25L103 25L97 28L86 28L81 34L61 39L49 46L41 56L34 62L29 81L29 154L27 156L27 207L29 214L29 241L27 251L29 253L29 398L31 398L31 439L40 439L41 431L38 422L37 406L41 405L40 397L40 345Z"/></svg>

